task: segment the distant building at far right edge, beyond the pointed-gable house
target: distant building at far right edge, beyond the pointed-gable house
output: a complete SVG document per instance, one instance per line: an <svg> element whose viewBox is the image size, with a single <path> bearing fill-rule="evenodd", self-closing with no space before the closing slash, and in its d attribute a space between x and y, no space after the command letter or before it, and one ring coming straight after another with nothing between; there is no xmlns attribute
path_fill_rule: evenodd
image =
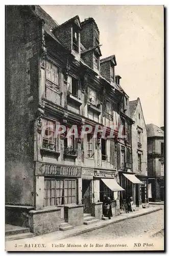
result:
<svg viewBox="0 0 169 256"><path fill-rule="evenodd" d="M149 201L164 201L164 132L147 124Z"/></svg>

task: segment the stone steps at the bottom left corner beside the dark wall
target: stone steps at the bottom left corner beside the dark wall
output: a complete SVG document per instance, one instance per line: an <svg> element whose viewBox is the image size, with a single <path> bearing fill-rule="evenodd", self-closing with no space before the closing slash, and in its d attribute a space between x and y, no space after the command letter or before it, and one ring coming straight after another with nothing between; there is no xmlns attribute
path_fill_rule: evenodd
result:
<svg viewBox="0 0 169 256"><path fill-rule="evenodd" d="M27 227L13 226L6 224L5 225L5 240L12 241L18 239L32 238L34 234L30 232L30 229Z"/></svg>

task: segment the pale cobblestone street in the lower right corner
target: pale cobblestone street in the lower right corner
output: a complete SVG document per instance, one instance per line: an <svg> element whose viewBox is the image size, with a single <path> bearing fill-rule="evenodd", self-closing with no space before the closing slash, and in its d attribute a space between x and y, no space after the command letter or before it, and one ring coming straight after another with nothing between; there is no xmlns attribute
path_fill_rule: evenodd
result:
<svg viewBox="0 0 169 256"><path fill-rule="evenodd" d="M116 238L144 238L152 237L154 236L154 233L157 233L155 236L156 238L161 238L163 237L163 232L161 230L164 228L163 218L164 210L162 209L148 215L125 220L104 228L80 234L79 236L71 238L71 242L77 241L78 239L92 241L93 239L112 240ZM68 239L66 239L66 241L68 241Z"/></svg>

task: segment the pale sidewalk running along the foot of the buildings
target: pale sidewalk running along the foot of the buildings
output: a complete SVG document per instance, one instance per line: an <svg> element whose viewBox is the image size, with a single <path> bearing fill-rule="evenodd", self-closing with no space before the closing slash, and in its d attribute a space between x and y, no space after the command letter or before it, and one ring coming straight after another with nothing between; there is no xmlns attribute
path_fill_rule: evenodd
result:
<svg viewBox="0 0 169 256"><path fill-rule="evenodd" d="M81 226L77 226L75 227L74 229L70 229L70 230L67 230L67 231L55 231L55 232L51 232L51 233L47 233L47 234L43 234L43 235L40 235L40 236L36 236L36 237L33 237L33 238L28 238L28 239L21 239L21 240L15 240L15 241L8 241L6 242L6 246L7 244L10 245L11 243L15 243L17 241L17 243L42 243L42 242L45 242L45 243L48 243L48 242L52 242L52 241L58 241L58 240L63 240L65 238L70 238L70 237L74 237L74 236L77 236L78 234L82 234L82 233L85 233L85 232L88 232L88 231L91 231L91 230L95 230L95 229L99 229L99 228L102 228L102 227L105 227L105 226L108 226L110 224L113 224L113 223L117 223L117 222L120 222L120 221L124 221L124 220L128 220L128 219L132 219L132 218L136 218L136 217L139 217L139 216L142 216L142 215L146 215L146 214L150 214L151 212L155 212L155 211L158 211L158 210L161 210L162 208L159 206L159 207L154 207L154 206L151 206L149 208L146 208L146 209L139 209L138 211L136 212L130 212L129 214L122 214L122 215L119 215L119 216L115 216L113 217L111 220L101 220L101 221L98 221L94 224L91 224L89 226L86 226L86 225L81 225Z"/></svg>

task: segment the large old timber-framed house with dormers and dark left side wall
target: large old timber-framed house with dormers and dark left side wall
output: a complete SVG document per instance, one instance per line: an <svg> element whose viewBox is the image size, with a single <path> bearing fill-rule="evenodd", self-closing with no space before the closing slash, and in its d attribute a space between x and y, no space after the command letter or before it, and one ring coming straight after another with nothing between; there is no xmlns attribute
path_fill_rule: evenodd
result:
<svg viewBox="0 0 169 256"><path fill-rule="evenodd" d="M119 199L139 182L132 174L129 97L115 75L115 56L100 60L99 35L93 18L58 25L39 6L6 7L7 223L35 234L64 221L81 225L84 213L102 218L104 194L118 215ZM55 138L58 124L66 131ZM119 124L126 138L117 138ZM72 125L78 138L68 136ZM93 129L81 138L83 125ZM94 138L95 126L106 126L106 135Z"/></svg>

